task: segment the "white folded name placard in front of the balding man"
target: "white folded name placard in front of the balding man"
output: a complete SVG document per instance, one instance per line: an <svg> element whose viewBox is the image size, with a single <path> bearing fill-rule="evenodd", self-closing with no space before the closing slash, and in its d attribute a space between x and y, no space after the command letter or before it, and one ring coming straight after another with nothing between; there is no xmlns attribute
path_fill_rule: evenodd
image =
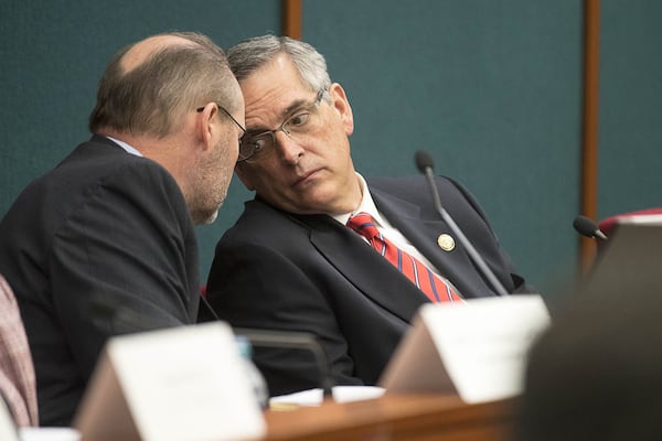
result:
<svg viewBox="0 0 662 441"><path fill-rule="evenodd" d="M252 440L265 422L222 322L110 338L75 419L84 439Z"/></svg>

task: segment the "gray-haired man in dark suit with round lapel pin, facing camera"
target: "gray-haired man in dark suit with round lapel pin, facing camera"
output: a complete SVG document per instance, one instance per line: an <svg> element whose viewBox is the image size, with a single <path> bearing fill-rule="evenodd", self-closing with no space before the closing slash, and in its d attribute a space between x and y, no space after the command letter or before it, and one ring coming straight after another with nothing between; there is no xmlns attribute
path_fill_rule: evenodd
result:
<svg viewBox="0 0 662 441"><path fill-rule="evenodd" d="M337 384L374 385L429 300L345 226L353 214L372 215L383 236L457 294L493 289L439 218L423 176L366 183L355 172L349 100L313 47L267 35L231 49L228 60L246 101L235 171L257 194L216 247L209 302L235 326L312 333ZM506 290L525 290L476 201L449 179L437 185ZM257 347L255 362L271 395L319 387L305 352Z"/></svg>

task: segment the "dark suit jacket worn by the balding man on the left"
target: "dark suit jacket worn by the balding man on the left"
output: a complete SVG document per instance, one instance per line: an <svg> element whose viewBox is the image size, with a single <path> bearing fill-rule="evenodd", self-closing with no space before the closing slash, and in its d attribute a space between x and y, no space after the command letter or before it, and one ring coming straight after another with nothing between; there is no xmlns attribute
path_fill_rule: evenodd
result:
<svg viewBox="0 0 662 441"><path fill-rule="evenodd" d="M102 137L14 202L0 224L0 272L23 318L46 426L71 423L109 336L197 314L197 246L179 186ZM143 322L97 313L97 299Z"/></svg>

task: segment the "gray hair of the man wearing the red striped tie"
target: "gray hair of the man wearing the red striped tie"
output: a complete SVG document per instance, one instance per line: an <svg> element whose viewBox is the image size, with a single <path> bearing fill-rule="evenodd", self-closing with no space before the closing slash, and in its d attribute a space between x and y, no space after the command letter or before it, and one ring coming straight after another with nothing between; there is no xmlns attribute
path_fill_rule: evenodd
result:
<svg viewBox="0 0 662 441"><path fill-rule="evenodd" d="M289 36L263 35L244 40L227 50L227 61L241 83L281 53L292 61L306 87L312 92L329 89L331 78L322 54L310 44Z"/></svg>

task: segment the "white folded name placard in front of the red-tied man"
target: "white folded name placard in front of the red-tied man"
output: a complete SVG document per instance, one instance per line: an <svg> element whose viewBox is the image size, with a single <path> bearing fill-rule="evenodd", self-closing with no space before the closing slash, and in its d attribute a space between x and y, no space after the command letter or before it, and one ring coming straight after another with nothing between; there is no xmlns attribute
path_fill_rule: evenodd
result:
<svg viewBox="0 0 662 441"><path fill-rule="evenodd" d="M528 348L548 324L537 294L426 304L380 385L387 394L458 394L468 404L516 396Z"/></svg>

